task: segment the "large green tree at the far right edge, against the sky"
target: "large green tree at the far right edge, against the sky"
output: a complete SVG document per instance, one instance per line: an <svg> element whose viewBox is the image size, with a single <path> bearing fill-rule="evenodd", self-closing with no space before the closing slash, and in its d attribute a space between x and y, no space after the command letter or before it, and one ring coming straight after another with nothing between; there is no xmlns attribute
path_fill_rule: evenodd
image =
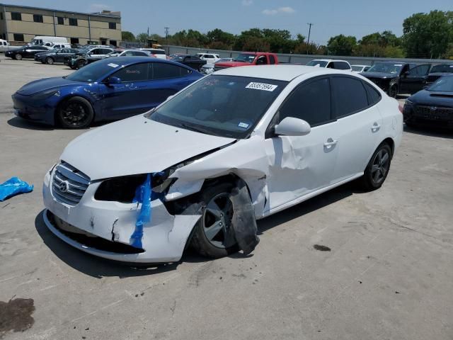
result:
<svg viewBox="0 0 453 340"><path fill-rule="evenodd" d="M403 22L406 57L437 58L445 54L453 35L453 12L415 13Z"/></svg>

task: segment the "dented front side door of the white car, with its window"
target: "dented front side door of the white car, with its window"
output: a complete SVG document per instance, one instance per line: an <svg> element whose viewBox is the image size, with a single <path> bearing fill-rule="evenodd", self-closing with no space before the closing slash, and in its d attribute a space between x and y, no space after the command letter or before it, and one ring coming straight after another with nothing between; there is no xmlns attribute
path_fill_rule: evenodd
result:
<svg viewBox="0 0 453 340"><path fill-rule="evenodd" d="M299 84L280 107L266 133L270 209L329 186L338 156L337 123L331 110L328 77ZM272 127L284 118L306 120L305 136L276 136Z"/></svg>

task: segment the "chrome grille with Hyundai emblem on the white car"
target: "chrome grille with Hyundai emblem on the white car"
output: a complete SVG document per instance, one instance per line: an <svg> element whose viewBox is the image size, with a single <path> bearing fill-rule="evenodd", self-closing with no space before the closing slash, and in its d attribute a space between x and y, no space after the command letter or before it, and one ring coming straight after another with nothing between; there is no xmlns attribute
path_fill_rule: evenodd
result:
<svg viewBox="0 0 453 340"><path fill-rule="evenodd" d="M53 196L67 205L77 205L88 188L90 178L83 172L62 162L55 167L52 180Z"/></svg>

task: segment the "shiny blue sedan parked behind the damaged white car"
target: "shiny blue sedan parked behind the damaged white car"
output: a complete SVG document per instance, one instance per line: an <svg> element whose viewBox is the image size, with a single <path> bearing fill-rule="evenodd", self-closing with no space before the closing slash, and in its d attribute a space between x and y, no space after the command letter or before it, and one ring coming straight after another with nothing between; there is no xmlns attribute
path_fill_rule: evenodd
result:
<svg viewBox="0 0 453 340"><path fill-rule="evenodd" d="M177 62L151 57L114 57L93 62L67 77L32 81L13 94L16 115L63 128L144 113L204 77Z"/></svg>

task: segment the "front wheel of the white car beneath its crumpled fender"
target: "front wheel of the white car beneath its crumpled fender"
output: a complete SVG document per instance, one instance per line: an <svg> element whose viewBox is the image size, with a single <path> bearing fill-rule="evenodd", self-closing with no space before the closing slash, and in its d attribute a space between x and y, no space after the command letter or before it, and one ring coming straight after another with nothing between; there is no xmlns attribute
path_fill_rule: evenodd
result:
<svg viewBox="0 0 453 340"><path fill-rule="evenodd" d="M218 259L239 250L231 227L231 183L205 188L200 194L202 217L195 225L192 245L202 256Z"/></svg>

